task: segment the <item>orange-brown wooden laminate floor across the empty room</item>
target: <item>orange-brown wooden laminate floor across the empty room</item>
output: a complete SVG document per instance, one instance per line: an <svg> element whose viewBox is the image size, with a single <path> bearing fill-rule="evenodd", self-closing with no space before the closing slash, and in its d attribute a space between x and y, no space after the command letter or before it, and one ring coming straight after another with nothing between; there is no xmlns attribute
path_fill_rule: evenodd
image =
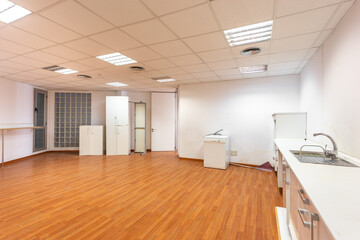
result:
<svg viewBox="0 0 360 240"><path fill-rule="evenodd" d="M273 172L174 152L45 153L0 179L0 239L277 239Z"/></svg>

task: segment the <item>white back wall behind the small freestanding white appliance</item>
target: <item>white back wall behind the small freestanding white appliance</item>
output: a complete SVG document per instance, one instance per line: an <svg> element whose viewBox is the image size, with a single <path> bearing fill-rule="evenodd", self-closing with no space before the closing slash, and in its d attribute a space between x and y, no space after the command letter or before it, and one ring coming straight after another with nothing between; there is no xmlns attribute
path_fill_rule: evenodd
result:
<svg viewBox="0 0 360 240"><path fill-rule="evenodd" d="M181 85L179 156L203 159L203 137L231 137L232 162L260 165L272 158L275 112L299 110L297 75Z"/></svg>

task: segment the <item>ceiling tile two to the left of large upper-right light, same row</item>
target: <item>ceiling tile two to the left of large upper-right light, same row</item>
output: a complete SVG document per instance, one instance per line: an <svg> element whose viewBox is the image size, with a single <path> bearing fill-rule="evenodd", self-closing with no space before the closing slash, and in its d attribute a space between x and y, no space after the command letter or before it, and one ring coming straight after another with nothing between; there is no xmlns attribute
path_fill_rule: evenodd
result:
<svg viewBox="0 0 360 240"><path fill-rule="evenodd" d="M179 56L179 55L185 55L185 54L192 53L190 48L188 48L180 40L158 43L158 44L151 45L149 47L164 57L173 57L173 56Z"/></svg>

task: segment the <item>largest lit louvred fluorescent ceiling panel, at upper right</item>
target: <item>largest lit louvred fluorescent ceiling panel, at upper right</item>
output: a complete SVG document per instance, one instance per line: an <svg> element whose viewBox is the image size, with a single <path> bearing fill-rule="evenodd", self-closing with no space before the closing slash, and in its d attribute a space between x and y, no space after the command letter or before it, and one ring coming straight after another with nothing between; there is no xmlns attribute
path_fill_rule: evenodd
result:
<svg viewBox="0 0 360 240"><path fill-rule="evenodd" d="M244 27L225 30L230 47L268 41L271 38L273 21L256 23Z"/></svg>

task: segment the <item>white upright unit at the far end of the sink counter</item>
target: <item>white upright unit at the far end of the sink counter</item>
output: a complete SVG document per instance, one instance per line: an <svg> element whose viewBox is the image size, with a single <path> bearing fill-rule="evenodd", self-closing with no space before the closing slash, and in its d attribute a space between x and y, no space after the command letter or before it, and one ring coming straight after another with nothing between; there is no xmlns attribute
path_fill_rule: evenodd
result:
<svg viewBox="0 0 360 240"><path fill-rule="evenodd" d="M274 113L274 139L276 138L307 138L307 113ZM279 150L274 143L274 156L271 165L274 166L278 176L278 187L283 187L283 163L279 159Z"/></svg>

